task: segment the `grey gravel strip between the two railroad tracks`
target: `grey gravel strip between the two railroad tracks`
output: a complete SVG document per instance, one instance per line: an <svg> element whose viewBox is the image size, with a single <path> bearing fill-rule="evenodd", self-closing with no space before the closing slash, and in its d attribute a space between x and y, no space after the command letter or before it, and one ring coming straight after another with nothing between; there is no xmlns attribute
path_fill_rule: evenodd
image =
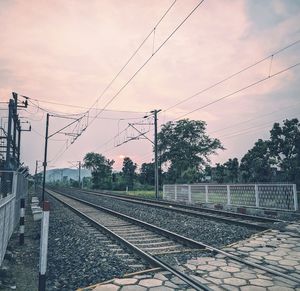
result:
<svg viewBox="0 0 300 291"><path fill-rule="evenodd" d="M69 190L68 193L215 247L234 243L258 232L253 228L216 222L104 196L81 194L72 190Z"/></svg>

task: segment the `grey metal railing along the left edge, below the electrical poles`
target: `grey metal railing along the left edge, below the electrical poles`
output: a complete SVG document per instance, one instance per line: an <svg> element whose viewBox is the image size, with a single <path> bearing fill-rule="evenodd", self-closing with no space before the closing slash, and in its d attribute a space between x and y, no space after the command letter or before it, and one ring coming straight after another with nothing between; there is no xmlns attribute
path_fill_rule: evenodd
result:
<svg viewBox="0 0 300 291"><path fill-rule="evenodd" d="M27 196L27 191L28 181L21 173L0 171L0 266L20 219L20 199Z"/></svg>

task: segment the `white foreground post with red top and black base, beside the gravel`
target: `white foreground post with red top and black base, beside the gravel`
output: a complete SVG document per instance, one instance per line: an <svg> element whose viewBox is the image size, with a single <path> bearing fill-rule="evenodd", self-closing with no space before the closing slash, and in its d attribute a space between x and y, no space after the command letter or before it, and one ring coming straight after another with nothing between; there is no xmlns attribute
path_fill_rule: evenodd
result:
<svg viewBox="0 0 300 291"><path fill-rule="evenodd" d="M39 291L46 290L46 270L47 270L47 250L48 250L48 231L49 231L49 210L48 201L43 203L43 218L40 241L40 270L39 270Z"/></svg>

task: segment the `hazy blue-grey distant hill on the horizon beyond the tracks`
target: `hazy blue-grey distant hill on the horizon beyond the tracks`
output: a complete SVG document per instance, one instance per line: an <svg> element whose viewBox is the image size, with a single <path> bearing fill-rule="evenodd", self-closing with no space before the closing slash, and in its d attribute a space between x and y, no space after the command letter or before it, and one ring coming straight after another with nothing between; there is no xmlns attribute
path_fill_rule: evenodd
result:
<svg viewBox="0 0 300 291"><path fill-rule="evenodd" d="M90 177L90 176L91 176L90 170L81 169L81 179L83 177ZM46 182L60 181L62 179L78 180L78 169L69 169L69 168L51 169L46 172Z"/></svg>

